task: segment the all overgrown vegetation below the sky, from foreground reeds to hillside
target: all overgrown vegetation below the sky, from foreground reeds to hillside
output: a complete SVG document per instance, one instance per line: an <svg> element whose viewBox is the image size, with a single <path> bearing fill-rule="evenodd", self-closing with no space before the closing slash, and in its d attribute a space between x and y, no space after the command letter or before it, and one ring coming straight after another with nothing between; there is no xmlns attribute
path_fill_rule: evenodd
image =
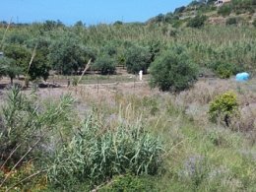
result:
<svg viewBox="0 0 256 192"><path fill-rule="evenodd" d="M2 22L0 77L29 87L51 71L76 88L0 91L0 190L254 191L255 80L231 77L256 72L255 6L193 1L147 23ZM87 63L102 76L80 81ZM120 68L148 73L152 90L148 77L120 83Z"/></svg>

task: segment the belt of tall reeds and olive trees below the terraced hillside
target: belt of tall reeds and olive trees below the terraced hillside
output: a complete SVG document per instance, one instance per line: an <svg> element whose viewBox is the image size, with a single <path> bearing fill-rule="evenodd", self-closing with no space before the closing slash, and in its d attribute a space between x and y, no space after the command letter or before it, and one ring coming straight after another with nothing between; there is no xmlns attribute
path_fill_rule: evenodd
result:
<svg viewBox="0 0 256 192"><path fill-rule="evenodd" d="M206 6L211 5L204 5ZM199 10L198 16L200 14L203 13ZM117 65L124 66L127 58L130 57L127 52L144 52L145 54L141 55L132 53L138 61L133 62L135 59L131 57L127 63L130 73L138 73L141 68L148 68L165 47L171 44L186 46L188 56L200 67L207 67L207 63L218 60L243 66L246 70L255 70L255 32L251 28L209 25L208 28L201 28L196 32L190 28L182 30L171 28L184 26L186 22L189 22L189 19L179 19L178 15L167 13L161 24L149 21L143 25L123 24L118 27L113 25L54 27L52 31L43 30L43 24L38 23L19 28L14 26L10 34L7 33L5 48L2 51L5 56L14 59L17 66L22 66L22 73L25 74L28 72L32 50L37 44L36 55L29 71L32 80L37 77L46 79L49 69L62 74L75 75L83 71L90 58L94 63L97 57L104 54L111 55ZM0 30L0 36L3 33L4 31ZM28 33L30 35L27 35ZM132 48L133 45L145 51L137 51L136 48Z"/></svg>

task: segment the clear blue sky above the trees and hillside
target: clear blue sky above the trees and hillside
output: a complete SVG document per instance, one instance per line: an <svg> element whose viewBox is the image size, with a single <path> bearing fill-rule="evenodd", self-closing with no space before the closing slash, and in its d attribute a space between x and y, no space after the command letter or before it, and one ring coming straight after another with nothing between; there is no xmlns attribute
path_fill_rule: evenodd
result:
<svg viewBox="0 0 256 192"><path fill-rule="evenodd" d="M192 0L0 0L0 21L14 23L61 21L73 25L145 22L172 12Z"/></svg>

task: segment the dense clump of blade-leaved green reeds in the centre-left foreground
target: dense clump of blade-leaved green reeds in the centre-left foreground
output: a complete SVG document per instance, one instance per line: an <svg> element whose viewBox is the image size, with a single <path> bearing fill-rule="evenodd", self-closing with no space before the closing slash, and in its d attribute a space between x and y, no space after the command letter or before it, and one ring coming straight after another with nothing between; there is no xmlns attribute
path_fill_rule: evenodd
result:
<svg viewBox="0 0 256 192"><path fill-rule="evenodd" d="M92 116L54 158L48 177L65 188L70 182L100 183L127 171L154 175L160 169L162 154L159 138L141 126L103 128Z"/></svg>

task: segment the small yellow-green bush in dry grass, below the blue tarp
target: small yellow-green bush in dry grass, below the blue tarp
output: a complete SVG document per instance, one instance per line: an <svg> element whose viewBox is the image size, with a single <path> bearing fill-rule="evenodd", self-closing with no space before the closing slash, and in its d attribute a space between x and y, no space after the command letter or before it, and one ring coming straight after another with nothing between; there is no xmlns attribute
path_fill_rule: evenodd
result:
<svg viewBox="0 0 256 192"><path fill-rule="evenodd" d="M230 118L238 113L238 100L232 92L217 96L211 103L209 108L210 120L217 122L221 120L228 127Z"/></svg>

